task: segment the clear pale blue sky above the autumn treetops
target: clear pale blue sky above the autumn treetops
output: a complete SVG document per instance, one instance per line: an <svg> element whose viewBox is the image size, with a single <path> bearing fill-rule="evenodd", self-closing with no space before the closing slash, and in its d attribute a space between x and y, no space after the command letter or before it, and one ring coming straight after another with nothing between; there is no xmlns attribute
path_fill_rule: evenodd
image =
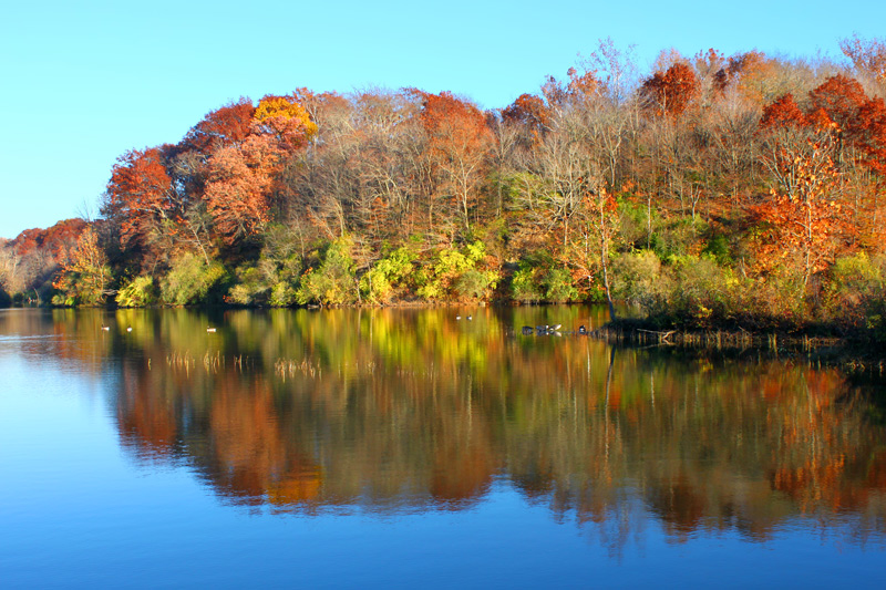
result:
<svg viewBox="0 0 886 590"><path fill-rule="evenodd" d="M0 236L93 210L115 158L176 143L239 96L370 85L486 108L563 77L600 38L659 51L839 58L886 2L22 0L0 11Z"/></svg>

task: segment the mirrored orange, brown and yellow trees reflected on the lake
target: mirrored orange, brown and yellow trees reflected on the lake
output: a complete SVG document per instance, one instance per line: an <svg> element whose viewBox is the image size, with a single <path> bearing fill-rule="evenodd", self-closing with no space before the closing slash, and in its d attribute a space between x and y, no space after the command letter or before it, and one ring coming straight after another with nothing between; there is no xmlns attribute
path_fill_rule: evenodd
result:
<svg viewBox="0 0 886 590"><path fill-rule="evenodd" d="M189 465L235 505L463 510L502 483L610 547L650 519L673 542L797 522L886 534L882 391L754 352L519 334L602 320L584 308L473 315L11 312L0 333L52 337L19 342L112 372L134 459Z"/></svg>

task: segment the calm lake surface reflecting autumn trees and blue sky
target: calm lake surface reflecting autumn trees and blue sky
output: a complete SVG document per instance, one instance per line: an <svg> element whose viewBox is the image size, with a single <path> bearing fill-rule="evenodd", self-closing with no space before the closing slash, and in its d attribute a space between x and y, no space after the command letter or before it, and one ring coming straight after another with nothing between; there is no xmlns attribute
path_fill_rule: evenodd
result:
<svg viewBox="0 0 886 590"><path fill-rule="evenodd" d="M601 320L0 311L0 586L886 586L882 387Z"/></svg>

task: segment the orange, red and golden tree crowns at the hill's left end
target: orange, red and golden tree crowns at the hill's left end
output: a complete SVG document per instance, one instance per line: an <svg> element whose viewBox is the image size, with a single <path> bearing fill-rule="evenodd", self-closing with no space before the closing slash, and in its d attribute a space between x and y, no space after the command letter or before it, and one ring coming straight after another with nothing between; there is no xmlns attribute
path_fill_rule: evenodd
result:
<svg viewBox="0 0 886 590"><path fill-rule="evenodd" d="M178 146L121 156L103 213L119 225L124 247L168 253L182 239L196 239L204 249L202 234L231 244L268 221L284 159L316 132L296 94L265 96L257 107L240 99L207 114ZM213 222L190 222L203 204Z"/></svg>

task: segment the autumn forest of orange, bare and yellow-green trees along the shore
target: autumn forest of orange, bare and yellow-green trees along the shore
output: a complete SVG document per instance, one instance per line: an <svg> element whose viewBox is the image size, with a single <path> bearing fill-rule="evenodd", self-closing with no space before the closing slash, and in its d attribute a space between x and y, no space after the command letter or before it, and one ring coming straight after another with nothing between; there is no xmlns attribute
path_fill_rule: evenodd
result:
<svg viewBox="0 0 886 590"><path fill-rule="evenodd" d="M95 218L0 244L0 303L606 302L886 341L886 40L597 43L502 108L296 89L131 149ZM90 216L85 216L90 217Z"/></svg>

